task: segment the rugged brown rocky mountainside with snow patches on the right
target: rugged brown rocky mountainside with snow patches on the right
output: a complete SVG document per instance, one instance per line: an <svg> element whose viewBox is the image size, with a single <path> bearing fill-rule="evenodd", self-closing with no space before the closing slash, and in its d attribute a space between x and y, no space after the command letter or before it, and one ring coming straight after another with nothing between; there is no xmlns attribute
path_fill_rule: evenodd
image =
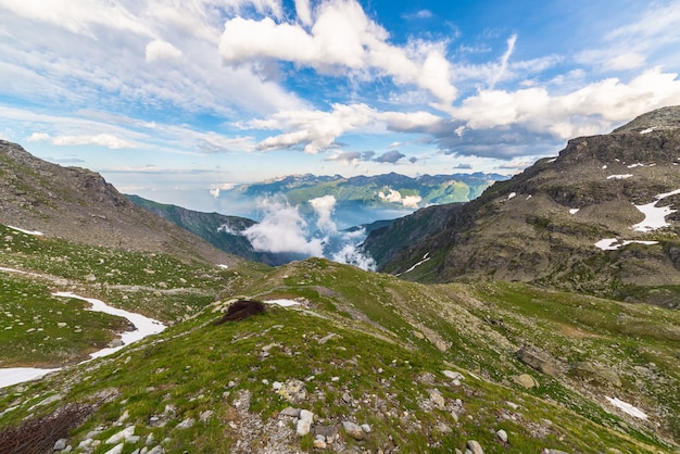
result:
<svg viewBox="0 0 680 454"><path fill-rule="evenodd" d="M677 306L679 122L680 108L665 108L572 139L479 199L398 219L364 247L407 279L533 281ZM423 225L438 230L416 239Z"/></svg>

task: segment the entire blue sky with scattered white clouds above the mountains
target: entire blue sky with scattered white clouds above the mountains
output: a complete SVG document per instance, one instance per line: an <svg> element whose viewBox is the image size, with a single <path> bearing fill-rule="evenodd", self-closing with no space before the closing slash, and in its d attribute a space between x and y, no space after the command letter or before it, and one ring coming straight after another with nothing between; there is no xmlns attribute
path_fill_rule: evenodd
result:
<svg viewBox="0 0 680 454"><path fill-rule="evenodd" d="M515 173L680 104L680 1L0 0L0 138L230 214L289 174Z"/></svg>

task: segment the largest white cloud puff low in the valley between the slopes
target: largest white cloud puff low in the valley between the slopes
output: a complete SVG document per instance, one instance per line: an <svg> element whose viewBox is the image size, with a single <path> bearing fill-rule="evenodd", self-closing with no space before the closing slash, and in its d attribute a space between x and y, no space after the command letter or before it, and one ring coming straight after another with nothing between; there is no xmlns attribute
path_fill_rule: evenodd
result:
<svg viewBox="0 0 680 454"><path fill-rule="evenodd" d="M242 231L255 251L324 255L322 240L307 239L307 223L297 207L280 199L265 199L260 207L262 220Z"/></svg>

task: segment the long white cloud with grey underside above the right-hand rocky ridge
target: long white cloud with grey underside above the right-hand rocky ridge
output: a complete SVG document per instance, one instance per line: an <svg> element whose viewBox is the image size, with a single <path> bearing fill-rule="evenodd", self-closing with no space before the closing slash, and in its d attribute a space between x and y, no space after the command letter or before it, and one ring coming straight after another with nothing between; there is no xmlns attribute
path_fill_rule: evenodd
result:
<svg viewBox="0 0 680 454"><path fill-rule="evenodd" d="M480 90L451 109L451 121L428 130L449 153L502 159L545 154L554 152L545 147L602 134L678 99L677 75L657 67L628 83L607 78L557 96L545 87Z"/></svg>

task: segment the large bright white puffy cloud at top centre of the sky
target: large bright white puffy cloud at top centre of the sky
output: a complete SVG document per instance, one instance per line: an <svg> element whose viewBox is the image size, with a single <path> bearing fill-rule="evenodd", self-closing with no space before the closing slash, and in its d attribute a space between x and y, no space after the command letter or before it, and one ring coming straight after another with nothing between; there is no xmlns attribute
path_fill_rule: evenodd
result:
<svg viewBox="0 0 680 454"><path fill-rule="evenodd" d="M417 85L442 103L456 98L442 43L392 46L388 33L367 17L355 0L323 1L313 16L307 15L307 1L297 1L295 7L302 25L270 17L228 20L219 41L223 59L231 64L275 59L322 73L333 66L374 70L396 84Z"/></svg>

